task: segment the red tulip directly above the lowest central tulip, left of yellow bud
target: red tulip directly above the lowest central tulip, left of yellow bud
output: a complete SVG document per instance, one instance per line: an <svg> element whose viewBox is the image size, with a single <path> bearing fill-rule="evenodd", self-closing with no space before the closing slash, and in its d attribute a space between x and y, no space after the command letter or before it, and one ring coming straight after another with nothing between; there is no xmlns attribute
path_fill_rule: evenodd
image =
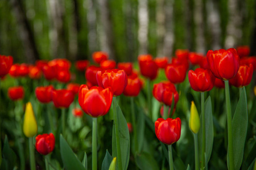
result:
<svg viewBox="0 0 256 170"><path fill-rule="evenodd" d="M175 105L179 100L179 94L177 93L174 84L170 82L160 82L160 83L154 84L152 93L156 100L168 106L172 105L172 100L173 100L172 95L174 95Z"/></svg>

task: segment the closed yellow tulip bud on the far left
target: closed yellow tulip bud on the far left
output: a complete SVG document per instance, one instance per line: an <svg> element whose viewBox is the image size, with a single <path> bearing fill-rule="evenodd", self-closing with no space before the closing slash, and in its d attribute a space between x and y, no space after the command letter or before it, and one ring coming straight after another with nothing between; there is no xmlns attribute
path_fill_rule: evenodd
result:
<svg viewBox="0 0 256 170"><path fill-rule="evenodd" d="M34 137L34 135L38 133L38 124L36 124L35 114L30 102L26 104L26 111L23 121L23 133L28 138Z"/></svg>

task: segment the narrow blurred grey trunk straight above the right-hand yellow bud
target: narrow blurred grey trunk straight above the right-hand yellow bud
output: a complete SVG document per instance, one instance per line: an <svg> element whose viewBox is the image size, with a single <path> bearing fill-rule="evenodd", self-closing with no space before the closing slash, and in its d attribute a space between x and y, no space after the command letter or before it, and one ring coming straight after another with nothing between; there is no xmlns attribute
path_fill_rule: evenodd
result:
<svg viewBox="0 0 256 170"><path fill-rule="evenodd" d="M194 10L195 32L196 32L196 52L205 53L203 1L195 0Z"/></svg>

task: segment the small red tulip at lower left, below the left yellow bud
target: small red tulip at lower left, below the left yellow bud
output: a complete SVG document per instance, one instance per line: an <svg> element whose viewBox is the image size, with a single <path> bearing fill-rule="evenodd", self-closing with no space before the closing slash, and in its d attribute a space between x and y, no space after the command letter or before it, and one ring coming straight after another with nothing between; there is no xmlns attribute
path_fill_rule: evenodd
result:
<svg viewBox="0 0 256 170"><path fill-rule="evenodd" d="M55 137L52 133L39 134L36 137L35 148L40 154L47 155L53 151L54 147Z"/></svg>

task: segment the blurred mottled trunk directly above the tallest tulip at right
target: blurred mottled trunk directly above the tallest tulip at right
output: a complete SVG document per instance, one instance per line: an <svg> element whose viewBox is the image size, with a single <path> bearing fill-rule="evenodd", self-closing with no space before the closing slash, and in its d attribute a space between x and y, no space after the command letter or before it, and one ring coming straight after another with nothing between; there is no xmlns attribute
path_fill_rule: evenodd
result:
<svg viewBox="0 0 256 170"><path fill-rule="evenodd" d="M238 1L228 0L229 19L226 27L225 48L236 48L242 37L241 14L238 11Z"/></svg>

